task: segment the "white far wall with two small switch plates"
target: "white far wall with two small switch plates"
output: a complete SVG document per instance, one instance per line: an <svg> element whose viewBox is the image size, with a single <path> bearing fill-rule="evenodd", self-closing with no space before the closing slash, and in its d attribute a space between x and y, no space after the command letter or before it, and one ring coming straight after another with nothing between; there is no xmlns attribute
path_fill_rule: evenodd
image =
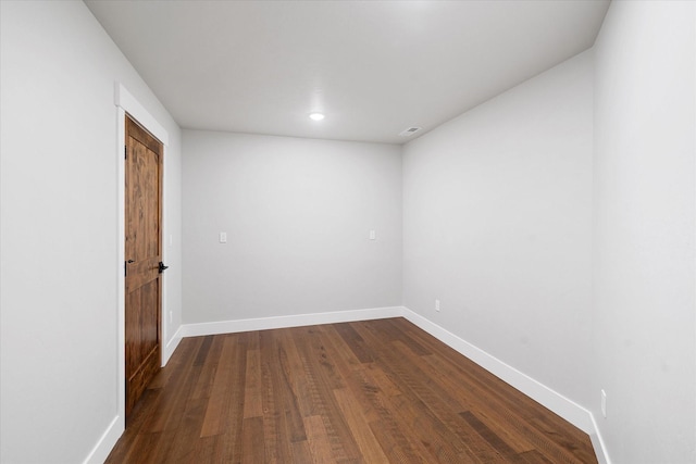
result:
<svg viewBox="0 0 696 464"><path fill-rule="evenodd" d="M398 146L184 130L183 147L185 323L400 305Z"/></svg>

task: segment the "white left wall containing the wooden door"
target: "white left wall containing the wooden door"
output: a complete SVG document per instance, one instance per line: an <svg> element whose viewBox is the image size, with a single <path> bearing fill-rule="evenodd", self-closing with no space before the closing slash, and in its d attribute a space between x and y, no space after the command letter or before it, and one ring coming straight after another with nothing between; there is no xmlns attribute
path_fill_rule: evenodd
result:
<svg viewBox="0 0 696 464"><path fill-rule="evenodd" d="M0 20L0 462L76 463L117 415L114 81L169 133L175 325L181 133L83 2L2 1Z"/></svg>

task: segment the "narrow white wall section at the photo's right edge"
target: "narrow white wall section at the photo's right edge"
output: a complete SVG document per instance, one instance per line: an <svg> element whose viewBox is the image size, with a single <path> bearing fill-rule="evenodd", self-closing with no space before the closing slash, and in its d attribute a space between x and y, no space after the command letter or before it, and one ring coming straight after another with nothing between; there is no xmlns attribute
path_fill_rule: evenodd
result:
<svg viewBox="0 0 696 464"><path fill-rule="evenodd" d="M592 410L614 463L696 462L695 23L614 1L595 46Z"/></svg>

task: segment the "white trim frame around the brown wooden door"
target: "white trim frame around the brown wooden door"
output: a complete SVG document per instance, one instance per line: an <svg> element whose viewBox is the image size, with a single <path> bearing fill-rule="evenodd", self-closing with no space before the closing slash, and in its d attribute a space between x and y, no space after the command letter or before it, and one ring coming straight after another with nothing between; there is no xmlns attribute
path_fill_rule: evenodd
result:
<svg viewBox="0 0 696 464"><path fill-rule="evenodd" d="M167 230L167 221L166 221L166 185L167 185L167 176L166 176L166 151L169 147L169 134L164 129L164 127L157 121L154 116L150 114L149 111L145 109L138 100L123 86L123 84L116 81L114 83L114 104L116 105L116 189L117 189L117 205L116 205L116 215L117 215L117 243L116 243L116 308L117 308L117 316L116 316L116 353L117 353L117 362L116 362L116 379L117 379L117 417L116 421L119 423L117 428L120 430L125 430L125 411L126 411L126 377L125 377L125 141L126 141L126 113L136 121L139 125L146 128L150 134L152 134L158 140L162 142L163 149L163 160L162 160L162 199L161 199L161 209L162 209L162 261L167 262L167 248L170 240L166 239L169 237ZM166 278L162 278L162 305L160 313L160 349L161 349L161 364L164 366L166 363L165 350L164 346L166 340L169 339L170 334L167 334L169 324L165 324L164 315L167 314L167 299L166 299Z"/></svg>

